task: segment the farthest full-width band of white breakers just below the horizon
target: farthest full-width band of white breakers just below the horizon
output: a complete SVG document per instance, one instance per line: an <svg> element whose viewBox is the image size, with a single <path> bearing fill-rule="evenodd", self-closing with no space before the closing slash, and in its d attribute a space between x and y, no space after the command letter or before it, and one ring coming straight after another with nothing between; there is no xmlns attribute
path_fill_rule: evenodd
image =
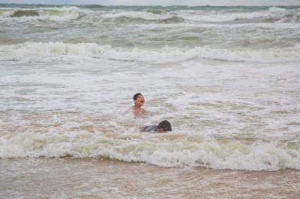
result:
<svg viewBox="0 0 300 199"><path fill-rule="evenodd" d="M223 23L236 20L259 20L265 22L298 23L299 10L271 7L268 10L260 11L203 11L203 10L176 10L168 11L152 9L150 11L124 11L115 9L112 11L102 10L103 6L63 6L49 8L2 8L0 9L0 20L54 20L68 21L80 17L81 14L89 15L97 22L99 20L116 20L119 23L126 23L131 20L158 20L165 23L177 23L181 21L194 21L206 23ZM87 10L88 9L88 10ZM91 9L91 10L90 10ZM89 18L89 17L88 17ZM89 18L90 19L90 18ZM247 21L248 23L248 21Z"/></svg>

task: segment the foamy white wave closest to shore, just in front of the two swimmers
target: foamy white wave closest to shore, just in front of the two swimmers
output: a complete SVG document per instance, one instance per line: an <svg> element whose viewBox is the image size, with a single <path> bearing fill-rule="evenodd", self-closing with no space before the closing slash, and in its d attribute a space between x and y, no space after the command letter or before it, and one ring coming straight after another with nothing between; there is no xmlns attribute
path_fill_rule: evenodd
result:
<svg viewBox="0 0 300 199"><path fill-rule="evenodd" d="M105 134L37 134L0 137L0 158L109 158L160 167L300 169L299 142L224 141L188 134L148 134L137 139Z"/></svg>

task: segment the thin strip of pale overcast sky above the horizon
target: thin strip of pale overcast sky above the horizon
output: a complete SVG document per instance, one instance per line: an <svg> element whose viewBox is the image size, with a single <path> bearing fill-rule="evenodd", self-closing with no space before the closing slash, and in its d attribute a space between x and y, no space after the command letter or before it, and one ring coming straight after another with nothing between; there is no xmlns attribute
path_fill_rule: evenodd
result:
<svg viewBox="0 0 300 199"><path fill-rule="evenodd" d="M101 4L111 6L300 6L300 0L0 0L0 4Z"/></svg>

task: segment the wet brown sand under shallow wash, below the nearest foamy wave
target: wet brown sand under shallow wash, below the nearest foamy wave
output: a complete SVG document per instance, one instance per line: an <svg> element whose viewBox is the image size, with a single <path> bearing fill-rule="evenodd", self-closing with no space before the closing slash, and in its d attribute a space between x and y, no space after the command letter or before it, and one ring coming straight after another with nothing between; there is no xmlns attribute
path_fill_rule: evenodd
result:
<svg viewBox="0 0 300 199"><path fill-rule="evenodd" d="M300 172L157 167L77 158L0 160L0 198L298 198Z"/></svg>

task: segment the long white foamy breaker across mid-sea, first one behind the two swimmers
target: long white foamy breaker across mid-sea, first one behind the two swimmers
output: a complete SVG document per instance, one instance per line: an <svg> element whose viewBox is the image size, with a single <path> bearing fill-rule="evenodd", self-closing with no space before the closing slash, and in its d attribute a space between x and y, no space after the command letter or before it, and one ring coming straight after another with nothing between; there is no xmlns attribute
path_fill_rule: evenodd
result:
<svg viewBox="0 0 300 199"><path fill-rule="evenodd" d="M66 44L63 42L28 42L0 46L0 60L47 61L61 56L102 58L108 60L166 63L209 58L249 63L285 63L300 61L300 44L272 49L212 49L196 46L191 49L164 46L159 49L121 48L95 43Z"/></svg>

